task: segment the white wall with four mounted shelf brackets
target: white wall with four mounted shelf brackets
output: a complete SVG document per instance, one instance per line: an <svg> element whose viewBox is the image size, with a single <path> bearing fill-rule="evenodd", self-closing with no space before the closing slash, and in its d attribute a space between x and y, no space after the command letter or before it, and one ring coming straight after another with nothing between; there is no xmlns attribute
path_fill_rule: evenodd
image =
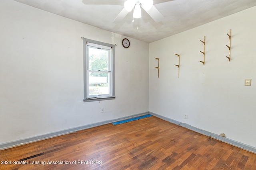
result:
<svg viewBox="0 0 256 170"><path fill-rule="evenodd" d="M150 43L149 111L256 147L255 13L250 8ZM199 62L204 36L205 65ZM180 78L174 53L180 54ZM160 58L160 78L154 57ZM244 79L252 79L252 86L244 86Z"/></svg>

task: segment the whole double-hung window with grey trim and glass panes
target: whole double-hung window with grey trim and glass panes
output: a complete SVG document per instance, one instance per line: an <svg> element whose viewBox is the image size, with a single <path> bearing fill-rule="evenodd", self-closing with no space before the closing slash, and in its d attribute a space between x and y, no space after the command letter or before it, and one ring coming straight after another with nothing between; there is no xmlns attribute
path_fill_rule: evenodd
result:
<svg viewBox="0 0 256 170"><path fill-rule="evenodd" d="M115 45L84 39L84 102L114 99Z"/></svg>

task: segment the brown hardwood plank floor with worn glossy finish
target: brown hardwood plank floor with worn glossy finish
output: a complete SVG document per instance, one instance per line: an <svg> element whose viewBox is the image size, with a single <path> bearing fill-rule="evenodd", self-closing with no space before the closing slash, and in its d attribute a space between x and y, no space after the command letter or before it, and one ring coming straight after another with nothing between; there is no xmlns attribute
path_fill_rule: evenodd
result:
<svg viewBox="0 0 256 170"><path fill-rule="evenodd" d="M256 154L154 116L0 150L0 160L1 170L256 170Z"/></svg>

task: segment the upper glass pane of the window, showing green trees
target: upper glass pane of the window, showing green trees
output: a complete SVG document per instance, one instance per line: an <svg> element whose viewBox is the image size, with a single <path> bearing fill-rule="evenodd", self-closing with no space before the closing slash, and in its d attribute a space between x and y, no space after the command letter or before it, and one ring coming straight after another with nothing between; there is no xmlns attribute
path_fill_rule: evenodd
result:
<svg viewBox="0 0 256 170"><path fill-rule="evenodd" d="M109 50L88 47L89 70L108 71Z"/></svg>

